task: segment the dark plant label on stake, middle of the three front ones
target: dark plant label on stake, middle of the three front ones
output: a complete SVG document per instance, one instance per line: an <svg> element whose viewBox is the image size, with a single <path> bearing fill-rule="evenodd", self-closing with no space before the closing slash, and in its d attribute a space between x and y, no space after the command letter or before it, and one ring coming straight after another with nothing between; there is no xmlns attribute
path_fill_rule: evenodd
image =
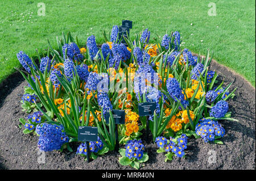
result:
<svg viewBox="0 0 256 181"><path fill-rule="evenodd" d="M115 122L115 151L119 150L118 124L125 124L125 110L112 110ZM109 111L106 112L106 124L109 124Z"/></svg>

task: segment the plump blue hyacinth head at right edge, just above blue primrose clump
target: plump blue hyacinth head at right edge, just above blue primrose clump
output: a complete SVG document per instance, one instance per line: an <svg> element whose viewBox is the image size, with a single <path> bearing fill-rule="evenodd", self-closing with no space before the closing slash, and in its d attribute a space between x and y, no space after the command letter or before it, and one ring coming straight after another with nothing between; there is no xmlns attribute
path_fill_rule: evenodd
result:
<svg viewBox="0 0 256 181"><path fill-rule="evenodd" d="M215 104L215 106L213 106L210 109L209 112L211 117L220 118L220 117L224 117L225 114L228 112L228 110L229 110L229 104L225 102L225 100L220 100Z"/></svg>

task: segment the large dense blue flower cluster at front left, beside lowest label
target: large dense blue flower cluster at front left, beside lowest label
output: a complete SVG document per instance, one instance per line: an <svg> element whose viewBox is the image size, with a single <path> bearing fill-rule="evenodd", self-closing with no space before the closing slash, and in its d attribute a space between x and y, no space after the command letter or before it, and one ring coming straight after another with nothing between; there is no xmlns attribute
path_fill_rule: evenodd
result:
<svg viewBox="0 0 256 181"><path fill-rule="evenodd" d="M62 125L38 124L36 133L39 134L38 147L41 151L59 150L63 144L69 141Z"/></svg>

